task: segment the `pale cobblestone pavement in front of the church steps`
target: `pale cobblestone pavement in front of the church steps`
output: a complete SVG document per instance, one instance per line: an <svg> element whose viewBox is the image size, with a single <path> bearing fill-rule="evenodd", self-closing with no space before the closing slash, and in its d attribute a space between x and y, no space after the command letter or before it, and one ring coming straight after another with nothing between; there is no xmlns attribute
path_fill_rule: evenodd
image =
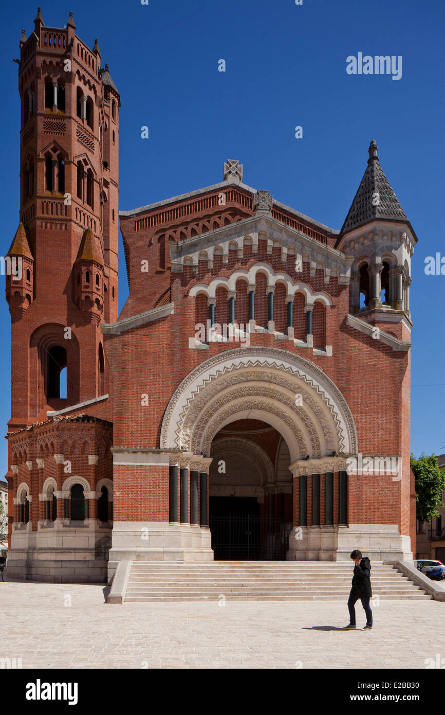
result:
<svg viewBox="0 0 445 715"><path fill-rule="evenodd" d="M357 606L359 606L357 608ZM445 663L445 603L104 603L102 586L0 582L1 658L23 668L425 668Z"/></svg>

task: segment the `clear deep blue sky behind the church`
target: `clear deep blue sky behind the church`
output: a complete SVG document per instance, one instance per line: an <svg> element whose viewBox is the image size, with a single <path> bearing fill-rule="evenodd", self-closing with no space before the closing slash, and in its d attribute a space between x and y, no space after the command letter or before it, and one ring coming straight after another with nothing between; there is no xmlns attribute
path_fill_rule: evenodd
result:
<svg viewBox="0 0 445 715"><path fill-rule="evenodd" d="M128 210L221 181L240 159L244 182L339 229L366 169L371 139L416 231L411 285L411 449L445 452L444 282L424 273L444 245L442 0L79 0L42 6L99 40L121 92L120 200ZM21 28L36 4L4 4L0 174L5 255L19 222L18 67ZM402 56L402 77L346 74L346 57ZM220 59L226 71L218 71ZM141 126L149 139L141 139ZM303 127L295 139L294 128ZM121 252L119 302L128 295ZM4 276L0 276L4 296ZM9 311L0 302L0 423L9 420ZM372 388L372 385L370 385ZM386 420L386 415L381 415ZM388 425L391 429L391 425ZM441 446L442 445L442 446ZM0 475L6 471L6 440ZM0 476L1 478L1 476Z"/></svg>

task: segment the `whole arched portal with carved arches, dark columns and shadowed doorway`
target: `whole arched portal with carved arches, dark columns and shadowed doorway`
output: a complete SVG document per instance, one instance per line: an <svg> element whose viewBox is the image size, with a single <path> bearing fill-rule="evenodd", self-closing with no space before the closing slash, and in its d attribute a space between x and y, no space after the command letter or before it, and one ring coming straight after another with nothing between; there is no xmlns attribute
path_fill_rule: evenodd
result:
<svg viewBox="0 0 445 715"><path fill-rule="evenodd" d="M274 453L266 449L268 435ZM175 451L171 523L185 528L190 493L190 523L201 531L208 529L212 513L221 520L236 511L275 520L267 538L255 537L251 553L241 540L241 553L233 558L334 558L332 526L346 524L346 483L339 473L346 469L346 455L357 453L356 429L340 390L314 363L274 347L239 347L206 360L171 398L161 449ZM221 461L229 463L229 473L218 471ZM177 506L178 493L184 508ZM241 501L247 499L250 506ZM297 540L300 527L308 526L318 529L315 546ZM332 548L320 536L325 526ZM219 558L229 558L227 538ZM281 548L285 543L284 552L274 543Z"/></svg>

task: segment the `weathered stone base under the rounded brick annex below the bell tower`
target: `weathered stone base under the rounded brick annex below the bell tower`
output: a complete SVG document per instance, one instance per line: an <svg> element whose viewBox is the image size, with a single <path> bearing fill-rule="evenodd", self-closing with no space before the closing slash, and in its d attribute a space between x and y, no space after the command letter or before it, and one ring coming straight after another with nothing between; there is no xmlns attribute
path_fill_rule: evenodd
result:
<svg viewBox="0 0 445 715"><path fill-rule="evenodd" d="M14 525L15 526L15 525ZM14 528L6 578L47 583L106 583L111 525L56 519Z"/></svg>

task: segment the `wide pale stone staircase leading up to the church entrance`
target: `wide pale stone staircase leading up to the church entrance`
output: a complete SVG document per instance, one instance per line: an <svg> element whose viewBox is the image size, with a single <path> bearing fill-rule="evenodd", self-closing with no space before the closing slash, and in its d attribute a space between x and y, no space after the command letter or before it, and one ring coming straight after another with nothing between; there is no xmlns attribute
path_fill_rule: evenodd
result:
<svg viewBox="0 0 445 715"><path fill-rule="evenodd" d="M371 564L373 596L431 598L421 586L381 561ZM133 561L125 603L152 601L344 601L352 567L341 561Z"/></svg>

